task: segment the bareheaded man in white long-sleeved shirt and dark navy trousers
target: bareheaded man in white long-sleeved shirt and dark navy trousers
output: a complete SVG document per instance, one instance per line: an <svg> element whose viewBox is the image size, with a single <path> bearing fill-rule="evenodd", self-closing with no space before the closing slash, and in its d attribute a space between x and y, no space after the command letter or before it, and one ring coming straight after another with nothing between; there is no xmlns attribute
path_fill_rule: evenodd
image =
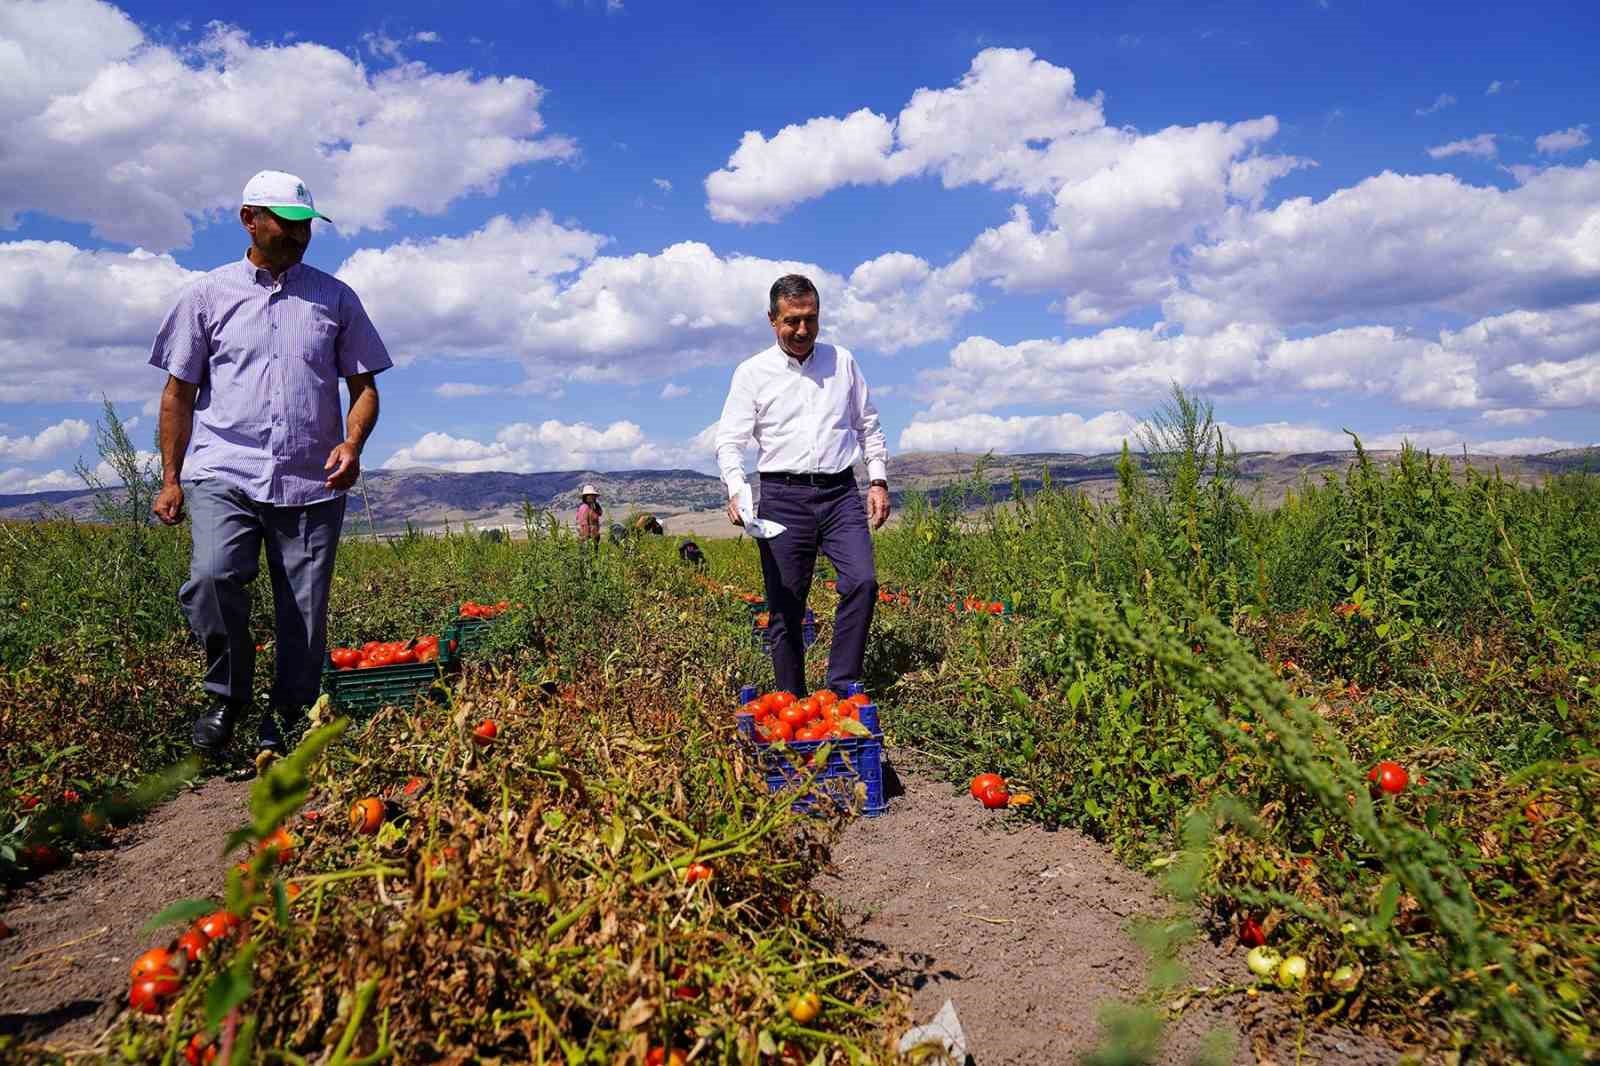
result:
<svg viewBox="0 0 1600 1066"><path fill-rule="evenodd" d="M890 517L888 445L878 411L854 357L816 343L819 314L821 299L808 279L787 274L773 283L766 319L776 343L733 371L717 427L728 520L744 525L738 495L746 487L744 448L754 439L762 479L754 517L786 527L755 544L771 610L778 688L795 695L810 691L802 626L818 552L838 571L826 683L843 695L861 679L878 592L867 523L877 530ZM861 456L867 459L866 507L851 469Z"/></svg>

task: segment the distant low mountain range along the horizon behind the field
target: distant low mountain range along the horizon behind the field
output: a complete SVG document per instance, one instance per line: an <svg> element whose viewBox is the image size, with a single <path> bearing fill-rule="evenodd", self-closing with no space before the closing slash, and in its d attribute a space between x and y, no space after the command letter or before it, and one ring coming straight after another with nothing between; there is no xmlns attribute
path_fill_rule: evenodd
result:
<svg viewBox="0 0 1600 1066"><path fill-rule="evenodd" d="M1378 463L1392 463L1397 451L1370 451ZM1355 458L1354 451L1274 453L1251 451L1240 456L1243 488L1262 506L1274 506L1293 487L1323 477L1339 477ZM1026 453L976 456L957 451L922 451L891 459L893 495L909 491L938 496L957 482L971 479L982 461L982 480L992 498L1011 496L1013 477L1022 491L1035 491L1050 472L1056 485L1072 485L1093 496L1115 491L1117 455ZM1554 474L1600 472L1600 447L1570 448L1525 456L1450 456L1477 469L1499 469L1501 475L1533 485ZM864 471L858 477L866 483ZM734 535L738 530L722 517L722 482L698 471L555 471L546 474L453 474L426 467L403 471L368 471L365 488L350 493L347 533L395 533L410 523L421 530L445 527L509 528L518 533L525 514L542 522L546 512L571 522L578 507L578 490L594 482L606 509L606 522L619 522L634 511L650 511L662 519L669 533L694 536ZM896 501L898 501L896 499ZM366 509L371 503L371 522ZM3 496L0 519L32 520L96 517L94 493L90 490L50 491Z"/></svg>

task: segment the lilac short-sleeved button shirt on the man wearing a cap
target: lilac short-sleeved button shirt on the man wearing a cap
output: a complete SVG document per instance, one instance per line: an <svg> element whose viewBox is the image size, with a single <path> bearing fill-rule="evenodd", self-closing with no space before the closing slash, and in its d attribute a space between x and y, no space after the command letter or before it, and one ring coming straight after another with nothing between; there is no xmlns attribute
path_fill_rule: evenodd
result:
<svg viewBox="0 0 1600 1066"><path fill-rule="evenodd" d="M323 469L344 440L339 378L394 362L349 285L304 262L274 280L245 258L178 295L150 365L200 386L186 480L299 507L339 495Z"/></svg>

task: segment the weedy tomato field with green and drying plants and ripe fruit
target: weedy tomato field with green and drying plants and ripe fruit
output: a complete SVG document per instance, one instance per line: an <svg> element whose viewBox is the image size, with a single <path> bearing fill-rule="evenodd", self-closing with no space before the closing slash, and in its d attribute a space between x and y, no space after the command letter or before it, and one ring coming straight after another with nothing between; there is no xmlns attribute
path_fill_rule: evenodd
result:
<svg viewBox="0 0 1600 1066"><path fill-rule="evenodd" d="M1237 944L1238 981L1294 1024L1430 1061L1594 1055L1600 482L1358 455L1267 511L1221 453L1120 472L1104 503L995 506L973 480L902 504L864 679L891 757L1163 879L1192 924L1152 946L1150 1026L1198 936ZM350 674L363 650L418 658L464 602L493 623L429 698L322 707L256 779L238 864L160 916L189 941L146 960L106 1058L896 1061L904 1002L810 884L850 815L790 812L738 741L739 687L771 688L750 543L702 544L702 578L672 538L523 533L347 528L330 632ZM14 895L195 773L202 695L182 528L0 543ZM270 616L262 578L262 701ZM760 717L774 741L853 720L784 709ZM238 928L202 935L218 912ZM48 1061L30 1047L0 1036Z"/></svg>

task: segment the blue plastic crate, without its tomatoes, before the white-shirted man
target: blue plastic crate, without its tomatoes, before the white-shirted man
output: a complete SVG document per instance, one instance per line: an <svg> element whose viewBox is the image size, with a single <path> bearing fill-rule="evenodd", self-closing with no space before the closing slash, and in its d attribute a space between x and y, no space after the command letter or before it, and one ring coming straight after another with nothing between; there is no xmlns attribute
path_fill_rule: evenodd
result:
<svg viewBox="0 0 1600 1066"><path fill-rule="evenodd" d="M858 687L851 687L853 690ZM739 706L755 698L754 688L741 690ZM861 723L870 736L846 736L826 741L768 743L755 735L755 719L739 714L739 738L755 754L755 762L766 778L768 792L798 789L813 771L810 765L818 749L827 746L827 765L811 778L811 789L797 795L790 807L798 812L821 812L829 807L853 808L856 786L866 786L866 802L861 813L875 818L888 810L883 797L883 730L878 728L878 707L874 703L861 707Z"/></svg>

